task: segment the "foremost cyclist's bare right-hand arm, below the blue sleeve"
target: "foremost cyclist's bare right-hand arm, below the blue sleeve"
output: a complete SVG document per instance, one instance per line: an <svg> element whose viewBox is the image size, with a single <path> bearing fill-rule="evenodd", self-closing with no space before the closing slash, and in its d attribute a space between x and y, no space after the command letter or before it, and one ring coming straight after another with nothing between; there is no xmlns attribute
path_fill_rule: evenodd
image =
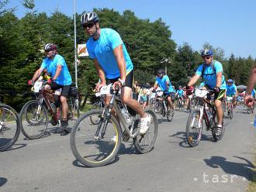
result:
<svg viewBox="0 0 256 192"><path fill-rule="evenodd" d="M123 46L119 45L113 50L114 55L116 57L117 65L119 67L120 79L125 82L126 81L126 62L123 57Z"/></svg>

